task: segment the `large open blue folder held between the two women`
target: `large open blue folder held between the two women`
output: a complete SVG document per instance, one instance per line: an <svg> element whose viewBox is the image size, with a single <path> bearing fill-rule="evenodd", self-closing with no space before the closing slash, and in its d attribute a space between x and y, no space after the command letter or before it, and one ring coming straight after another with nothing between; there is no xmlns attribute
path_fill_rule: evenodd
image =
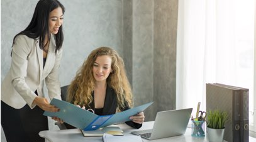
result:
<svg viewBox="0 0 256 142"><path fill-rule="evenodd" d="M130 121L129 117L142 112L147 109L153 102L148 102L142 106L133 107L123 112L107 116L98 116L90 111L81 109L80 107L70 104L69 102L52 99L50 104L58 107L60 111L49 112L45 111L44 116L59 117L65 123L68 123L76 128L83 129L84 131L91 131L99 128L109 126L111 124L123 123Z"/></svg>

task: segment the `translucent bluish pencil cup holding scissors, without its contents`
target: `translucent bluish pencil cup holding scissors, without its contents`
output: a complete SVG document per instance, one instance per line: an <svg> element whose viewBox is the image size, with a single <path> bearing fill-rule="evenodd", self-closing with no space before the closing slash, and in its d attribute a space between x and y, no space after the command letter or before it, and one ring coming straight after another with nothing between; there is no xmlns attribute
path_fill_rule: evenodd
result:
<svg viewBox="0 0 256 142"><path fill-rule="evenodd" d="M191 120L192 121L192 133L191 136L196 136L196 137L204 137L204 130L205 130L205 126L204 126L204 122L205 121L195 121L195 120Z"/></svg>

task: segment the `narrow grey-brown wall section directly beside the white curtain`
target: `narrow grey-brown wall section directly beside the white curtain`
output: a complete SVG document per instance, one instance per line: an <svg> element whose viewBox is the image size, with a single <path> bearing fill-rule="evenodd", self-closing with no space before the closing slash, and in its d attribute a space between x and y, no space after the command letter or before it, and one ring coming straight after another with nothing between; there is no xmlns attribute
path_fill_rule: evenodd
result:
<svg viewBox="0 0 256 142"><path fill-rule="evenodd" d="M153 93L157 111L175 109L178 2L156 0L153 28Z"/></svg>

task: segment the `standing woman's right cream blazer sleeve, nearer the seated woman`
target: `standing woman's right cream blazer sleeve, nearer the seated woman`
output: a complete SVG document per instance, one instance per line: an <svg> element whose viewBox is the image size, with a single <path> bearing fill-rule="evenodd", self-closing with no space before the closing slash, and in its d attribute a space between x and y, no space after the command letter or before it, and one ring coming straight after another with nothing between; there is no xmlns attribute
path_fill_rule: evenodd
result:
<svg viewBox="0 0 256 142"><path fill-rule="evenodd" d="M62 48L55 53L57 56L55 59L54 67L50 74L45 78L45 84L48 89L48 96L52 100L53 98L61 99L60 97L60 81L58 80L58 70L60 68L60 61L62 58Z"/></svg>

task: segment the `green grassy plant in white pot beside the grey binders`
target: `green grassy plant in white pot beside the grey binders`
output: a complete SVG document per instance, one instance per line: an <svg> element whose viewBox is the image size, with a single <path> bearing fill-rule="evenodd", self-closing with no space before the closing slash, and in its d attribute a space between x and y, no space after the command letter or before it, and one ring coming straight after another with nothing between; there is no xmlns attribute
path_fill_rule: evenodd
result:
<svg viewBox="0 0 256 142"><path fill-rule="evenodd" d="M209 141L223 141L228 112L215 109L207 112L206 131Z"/></svg>

